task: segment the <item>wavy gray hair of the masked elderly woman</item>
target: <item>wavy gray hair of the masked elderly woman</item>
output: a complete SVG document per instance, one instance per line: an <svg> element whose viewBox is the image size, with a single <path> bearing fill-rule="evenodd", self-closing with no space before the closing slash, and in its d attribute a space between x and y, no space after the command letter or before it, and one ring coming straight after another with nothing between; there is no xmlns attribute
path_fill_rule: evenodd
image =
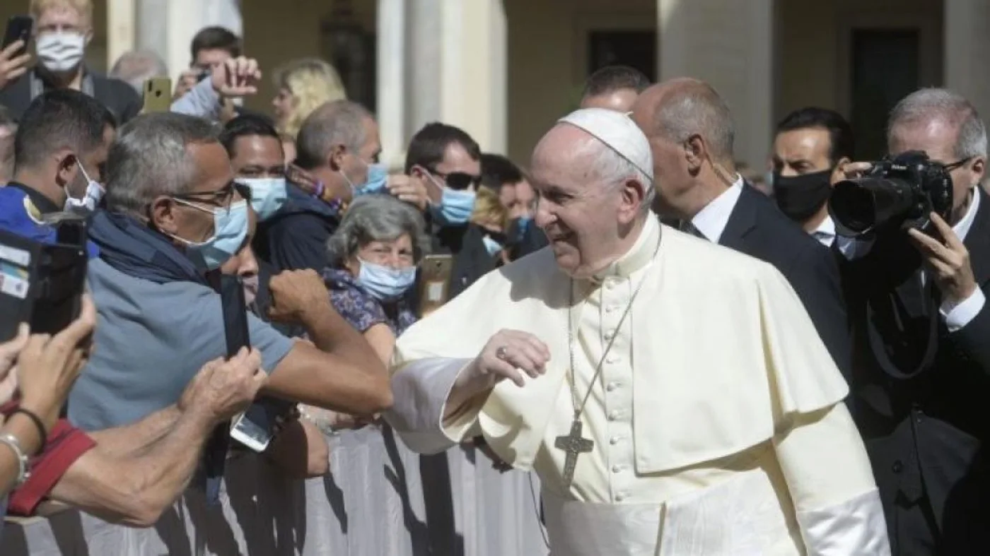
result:
<svg viewBox="0 0 990 556"><path fill-rule="evenodd" d="M340 267L371 241L393 241L407 233L413 242L414 260L419 262L430 251L423 215L391 195L358 197L347 208L337 232L327 241L330 265Z"/></svg>

